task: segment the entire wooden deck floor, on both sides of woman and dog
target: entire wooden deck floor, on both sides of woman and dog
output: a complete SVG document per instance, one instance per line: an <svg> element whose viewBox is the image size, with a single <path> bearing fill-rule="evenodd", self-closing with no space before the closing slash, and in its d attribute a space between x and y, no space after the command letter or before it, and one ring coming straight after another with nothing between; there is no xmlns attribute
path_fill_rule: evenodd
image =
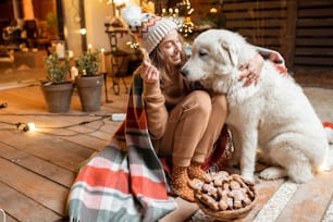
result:
<svg viewBox="0 0 333 222"><path fill-rule="evenodd" d="M59 115L47 111L39 86L0 91L0 103L8 103L0 109L0 209L5 211L7 221L49 222L65 215L78 164L103 148L120 125L108 115L125 111L127 95L123 87L120 96L110 89L108 95L113 102L103 102L101 110L91 114L81 111L74 92L71 112ZM84 121L92 122L81 125ZM17 131L14 124L18 122L34 122L38 131ZM317 222L325 217L323 221L333 221L332 171L305 185L279 180L260 181L257 187L258 202L242 221ZM211 221L200 212L188 219L196 207L184 202L181 207L163 221Z"/></svg>

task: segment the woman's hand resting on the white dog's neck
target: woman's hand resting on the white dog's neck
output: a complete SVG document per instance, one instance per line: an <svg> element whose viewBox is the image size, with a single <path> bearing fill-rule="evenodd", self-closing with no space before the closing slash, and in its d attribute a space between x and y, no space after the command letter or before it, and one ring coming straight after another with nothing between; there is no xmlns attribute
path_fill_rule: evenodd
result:
<svg viewBox="0 0 333 222"><path fill-rule="evenodd" d="M239 81L246 78L244 86L249 86L252 83L257 85L262 67L263 59L259 53L257 53L254 59L251 59L249 62L239 67L240 71L244 71L244 73L239 77Z"/></svg>

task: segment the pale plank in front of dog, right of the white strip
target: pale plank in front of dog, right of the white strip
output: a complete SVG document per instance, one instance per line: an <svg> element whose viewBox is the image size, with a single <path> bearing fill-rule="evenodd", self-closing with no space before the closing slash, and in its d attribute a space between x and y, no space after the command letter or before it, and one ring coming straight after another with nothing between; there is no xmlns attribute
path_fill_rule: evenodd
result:
<svg viewBox="0 0 333 222"><path fill-rule="evenodd" d="M333 171L323 172L316 180L299 186L288 207L278 218L276 222L321 221L333 195Z"/></svg>

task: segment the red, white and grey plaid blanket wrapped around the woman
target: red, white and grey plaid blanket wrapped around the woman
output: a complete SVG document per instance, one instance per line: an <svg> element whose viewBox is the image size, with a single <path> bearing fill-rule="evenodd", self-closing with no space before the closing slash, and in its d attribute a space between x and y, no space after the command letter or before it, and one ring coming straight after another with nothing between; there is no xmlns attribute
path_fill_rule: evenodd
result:
<svg viewBox="0 0 333 222"><path fill-rule="evenodd" d="M169 197L168 160L156 155L141 100L143 81L134 75L126 120L111 141L79 171L67 199L70 221L157 221L177 206ZM226 134L224 128L222 134ZM205 169L230 155L221 135ZM163 164L162 164L163 163Z"/></svg>

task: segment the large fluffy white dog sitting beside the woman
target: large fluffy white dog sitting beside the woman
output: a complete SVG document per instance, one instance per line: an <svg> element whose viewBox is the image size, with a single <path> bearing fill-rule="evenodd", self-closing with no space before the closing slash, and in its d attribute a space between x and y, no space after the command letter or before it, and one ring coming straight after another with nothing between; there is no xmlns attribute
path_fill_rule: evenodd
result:
<svg viewBox="0 0 333 222"><path fill-rule="evenodd" d="M303 89L291 76L280 74L270 61L264 61L257 85L243 86L238 78L244 71L238 66L255 54L255 47L240 35L207 30L195 39L182 73L189 81L199 81L226 95L226 124L235 147L231 163L240 163L243 176L255 180L258 147L271 165L260 177L289 176L296 183L305 183L322 169L326 159L329 143L322 123Z"/></svg>

